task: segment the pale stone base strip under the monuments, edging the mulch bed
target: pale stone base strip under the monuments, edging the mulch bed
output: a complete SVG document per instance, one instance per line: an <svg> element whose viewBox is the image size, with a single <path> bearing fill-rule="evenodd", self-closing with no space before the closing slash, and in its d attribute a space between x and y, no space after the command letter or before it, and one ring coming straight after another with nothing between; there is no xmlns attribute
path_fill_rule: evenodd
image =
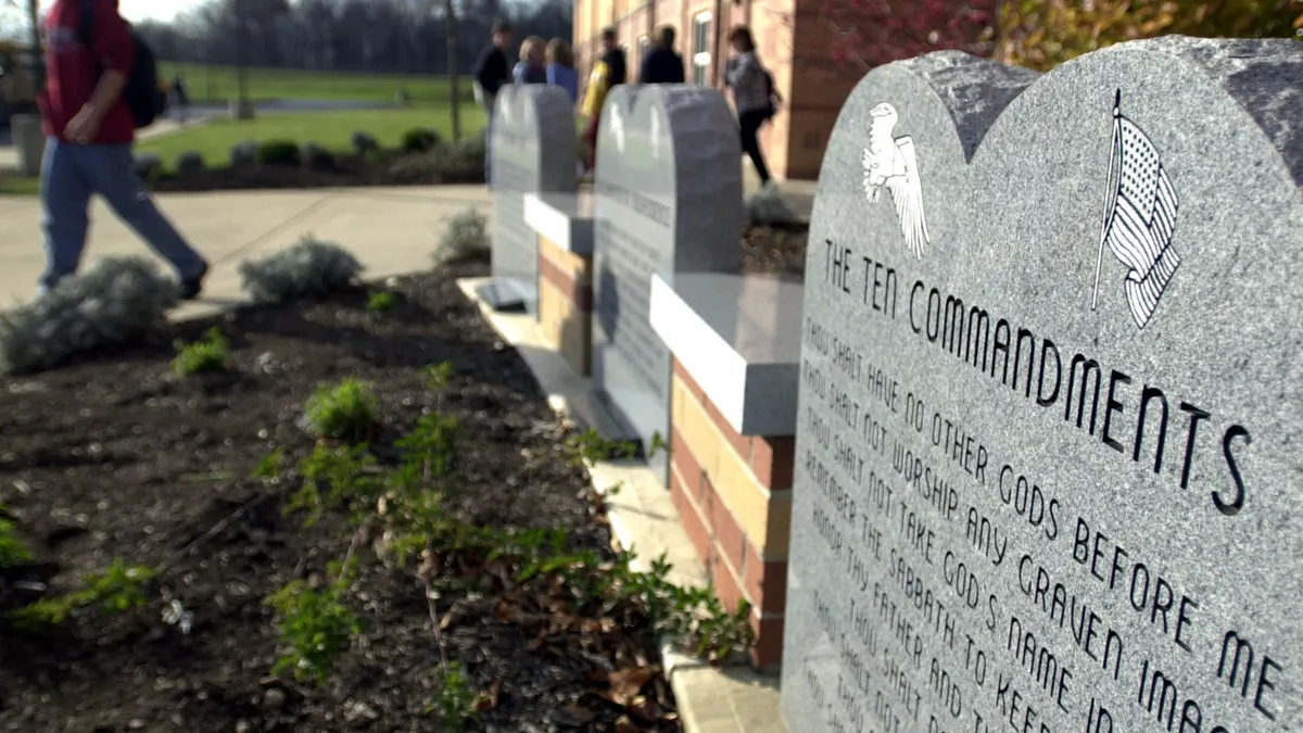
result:
<svg viewBox="0 0 1303 733"><path fill-rule="evenodd" d="M474 301L477 287L485 280L487 278L465 279L457 286ZM580 377L559 353L545 346L542 329L533 317L499 313L486 303L477 303L494 330L520 352L549 403L563 419L580 428L594 426L599 433L603 421L618 424L593 395L592 381ZM576 407L594 413L576 415ZM670 493L645 462L603 460L589 467L589 475L593 486L606 497L611 531L620 546L635 548L638 553L635 570L650 570L652 561L665 554L674 566L668 576L671 583L680 587L709 583L706 569L670 502ZM779 710L777 676L745 666L715 668L670 646L662 648L662 663L687 733L788 733Z"/></svg>

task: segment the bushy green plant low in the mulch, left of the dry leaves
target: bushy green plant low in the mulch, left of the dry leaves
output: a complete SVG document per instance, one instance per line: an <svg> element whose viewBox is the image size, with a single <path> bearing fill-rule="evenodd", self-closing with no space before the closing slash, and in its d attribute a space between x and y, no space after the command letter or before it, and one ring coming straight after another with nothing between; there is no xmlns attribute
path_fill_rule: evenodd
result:
<svg viewBox="0 0 1303 733"><path fill-rule="evenodd" d="M323 685L335 668L335 659L362 631L357 617L344 605L344 595L353 583L353 563L344 567L331 562L328 574L335 580L322 590L304 580L294 580L265 601L276 612L276 629L285 651L271 668L272 674L292 672L296 680Z"/></svg>

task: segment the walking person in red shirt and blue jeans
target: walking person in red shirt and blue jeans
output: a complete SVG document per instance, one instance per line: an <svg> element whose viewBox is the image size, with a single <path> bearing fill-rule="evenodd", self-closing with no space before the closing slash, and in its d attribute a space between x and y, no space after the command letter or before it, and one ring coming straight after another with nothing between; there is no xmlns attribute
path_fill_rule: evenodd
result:
<svg viewBox="0 0 1303 733"><path fill-rule="evenodd" d="M93 22L85 43L87 3ZM46 271L39 292L77 271L90 227L90 197L98 193L172 263L181 297L197 297L208 265L158 210L136 173L136 121L122 100L136 42L117 12L117 0L56 0L44 31L48 81L40 111L48 140L40 203Z"/></svg>

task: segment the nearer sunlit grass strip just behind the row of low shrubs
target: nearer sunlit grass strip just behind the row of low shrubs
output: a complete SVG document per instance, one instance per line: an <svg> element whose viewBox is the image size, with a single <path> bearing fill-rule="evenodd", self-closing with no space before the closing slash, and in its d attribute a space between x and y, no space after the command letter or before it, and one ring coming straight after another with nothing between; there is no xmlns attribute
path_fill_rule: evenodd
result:
<svg viewBox="0 0 1303 733"><path fill-rule="evenodd" d="M485 124L483 112L473 106L461 111L463 136L478 130ZM315 142L330 150L349 150L354 132L365 132L384 147L396 147L403 133L412 128L434 128L444 138L452 136L448 110L357 110L341 112L298 112L265 115L254 120L214 120L193 130L165 134L137 143L138 153L154 153L165 167L176 163L181 153L203 155L208 166L224 166L231 147L245 140L292 140L298 143Z"/></svg>

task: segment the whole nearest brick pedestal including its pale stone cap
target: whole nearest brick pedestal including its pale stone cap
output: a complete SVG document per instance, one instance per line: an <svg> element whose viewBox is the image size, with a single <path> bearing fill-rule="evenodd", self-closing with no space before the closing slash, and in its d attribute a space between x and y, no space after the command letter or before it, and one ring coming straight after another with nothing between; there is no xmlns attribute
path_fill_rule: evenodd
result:
<svg viewBox="0 0 1303 733"><path fill-rule="evenodd" d="M803 287L766 275L653 277L674 355L670 496L730 609L751 605L752 664L782 660Z"/></svg>

